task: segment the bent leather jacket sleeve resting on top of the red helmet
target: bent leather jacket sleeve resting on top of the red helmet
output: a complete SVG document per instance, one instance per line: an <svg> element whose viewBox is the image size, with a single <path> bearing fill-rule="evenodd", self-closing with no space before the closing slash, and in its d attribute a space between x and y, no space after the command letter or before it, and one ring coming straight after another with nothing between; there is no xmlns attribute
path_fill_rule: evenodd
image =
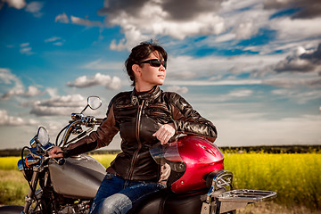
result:
<svg viewBox="0 0 321 214"><path fill-rule="evenodd" d="M185 99L173 93L169 100L172 103L173 122L177 134L204 136L214 142L218 132L208 119L204 119Z"/></svg>

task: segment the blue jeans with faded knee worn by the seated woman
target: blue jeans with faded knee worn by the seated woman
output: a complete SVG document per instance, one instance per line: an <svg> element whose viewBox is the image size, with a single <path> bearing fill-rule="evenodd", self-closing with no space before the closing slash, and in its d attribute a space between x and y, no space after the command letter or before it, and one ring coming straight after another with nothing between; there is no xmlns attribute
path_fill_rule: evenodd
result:
<svg viewBox="0 0 321 214"><path fill-rule="evenodd" d="M163 188L165 186L161 184L129 181L107 172L89 214L127 213L137 202Z"/></svg>

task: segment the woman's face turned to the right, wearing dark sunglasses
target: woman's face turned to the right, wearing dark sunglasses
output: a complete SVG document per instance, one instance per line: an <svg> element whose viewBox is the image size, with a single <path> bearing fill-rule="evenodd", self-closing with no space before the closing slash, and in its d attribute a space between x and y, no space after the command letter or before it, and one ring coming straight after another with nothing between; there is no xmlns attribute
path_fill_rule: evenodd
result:
<svg viewBox="0 0 321 214"><path fill-rule="evenodd" d="M159 59L163 60L161 54L158 52L151 53L144 61ZM149 90L153 86L161 86L164 84L166 78L166 69L161 64L160 67L153 67L148 62L142 63L139 66L140 74L136 77L136 89L142 88L143 90Z"/></svg>

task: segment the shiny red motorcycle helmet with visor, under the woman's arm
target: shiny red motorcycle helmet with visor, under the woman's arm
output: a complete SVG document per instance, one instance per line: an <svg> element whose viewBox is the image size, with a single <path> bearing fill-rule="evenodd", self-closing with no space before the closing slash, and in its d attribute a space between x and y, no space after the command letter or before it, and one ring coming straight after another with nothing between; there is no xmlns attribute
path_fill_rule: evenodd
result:
<svg viewBox="0 0 321 214"><path fill-rule="evenodd" d="M206 187L206 176L224 169L224 156L215 144L202 136L182 136L176 142L151 150L155 161L164 158L171 172L167 185L174 193L186 193Z"/></svg>

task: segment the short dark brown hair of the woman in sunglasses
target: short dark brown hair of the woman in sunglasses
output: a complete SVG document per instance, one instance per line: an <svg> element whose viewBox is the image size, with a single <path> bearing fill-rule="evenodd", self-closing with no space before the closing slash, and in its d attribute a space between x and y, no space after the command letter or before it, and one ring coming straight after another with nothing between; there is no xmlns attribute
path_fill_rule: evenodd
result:
<svg viewBox="0 0 321 214"><path fill-rule="evenodd" d="M140 45L136 45L136 47L131 50L128 59L125 62L125 67L128 71L130 80L133 81L132 86L135 86L135 76L134 70L132 70L132 66L144 61L144 59L146 59L151 53L155 51L160 53L164 61L167 61L168 53L166 53L164 48L162 48L160 45L156 45L152 42L142 42Z"/></svg>

